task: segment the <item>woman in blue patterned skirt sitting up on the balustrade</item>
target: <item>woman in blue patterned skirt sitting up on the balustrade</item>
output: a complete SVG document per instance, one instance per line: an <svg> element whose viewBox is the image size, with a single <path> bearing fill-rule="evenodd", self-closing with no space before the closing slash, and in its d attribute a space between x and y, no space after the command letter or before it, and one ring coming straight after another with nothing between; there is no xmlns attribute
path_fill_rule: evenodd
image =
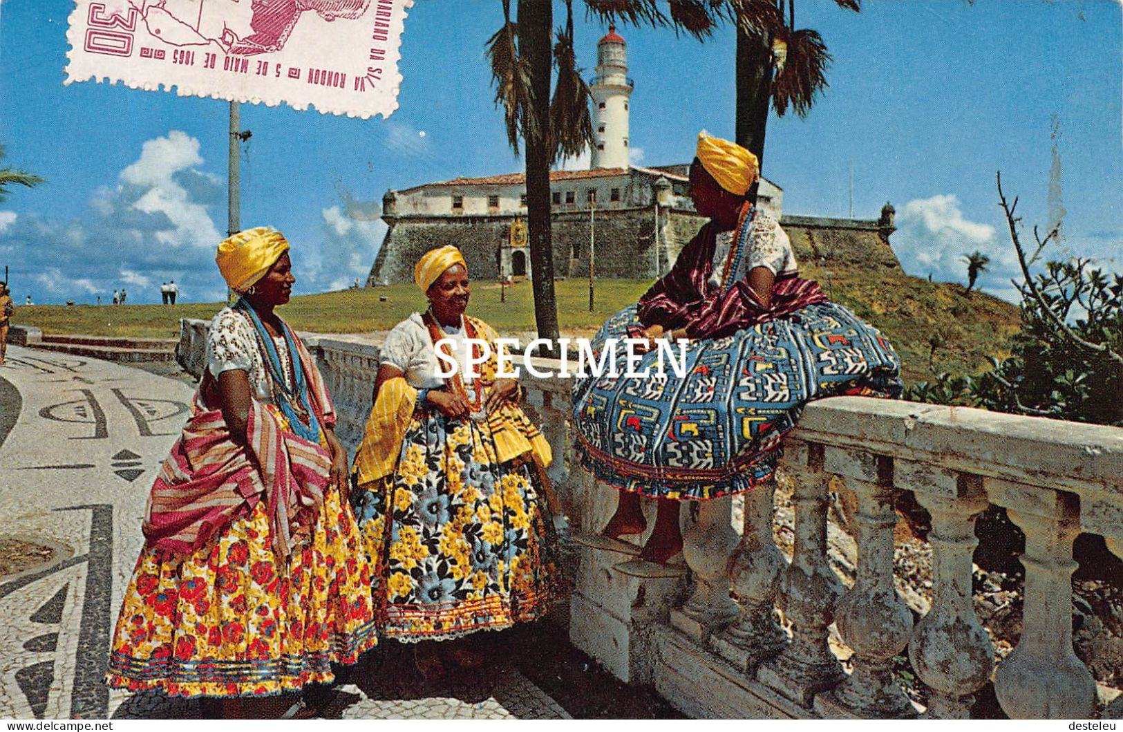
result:
<svg viewBox="0 0 1123 732"><path fill-rule="evenodd" d="M674 267L601 327L608 338L686 339L686 376L610 375L574 384L584 466L620 491L603 536L640 534L640 496L659 501L640 558L665 564L683 546L678 501L748 491L772 477L780 438L803 405L837 394L897 396L898 362L882 335L802 280L787 235L754 205L756 156L699 136L690 196L710 219ZM620 373L626 349L619 350ZM648 353L640 367L651 367Z"/></svg>

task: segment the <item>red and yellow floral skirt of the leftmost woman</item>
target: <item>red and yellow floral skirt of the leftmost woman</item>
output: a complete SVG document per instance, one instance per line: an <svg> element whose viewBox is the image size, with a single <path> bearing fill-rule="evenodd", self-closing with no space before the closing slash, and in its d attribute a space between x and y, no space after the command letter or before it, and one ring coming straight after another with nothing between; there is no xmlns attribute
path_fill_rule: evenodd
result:
<svg viewBox="0 0 1123 732"><path fill-rule="evenodd" d="M191 556L146 547L106 680L173 696L266 696L334 680L377 642L350 507L329 486L312 540L277 564L262 501Z"/></svg>

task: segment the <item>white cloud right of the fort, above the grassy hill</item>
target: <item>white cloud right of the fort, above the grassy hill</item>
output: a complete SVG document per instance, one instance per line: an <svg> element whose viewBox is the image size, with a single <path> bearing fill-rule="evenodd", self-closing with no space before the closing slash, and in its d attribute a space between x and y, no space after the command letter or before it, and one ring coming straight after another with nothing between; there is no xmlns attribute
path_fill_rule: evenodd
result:
<svg viewBox="0 0 1123 732"><path fill-rule="evenodd" d="M982 251L990 257L976 287L996 296L1017 300L1010 280L1019 274L1017 259L1008 241L1001 240L994 226L964 216L953 194L909 201L897 213L893 249L905 272L934 280L967 284L964 256Z"/></svg>

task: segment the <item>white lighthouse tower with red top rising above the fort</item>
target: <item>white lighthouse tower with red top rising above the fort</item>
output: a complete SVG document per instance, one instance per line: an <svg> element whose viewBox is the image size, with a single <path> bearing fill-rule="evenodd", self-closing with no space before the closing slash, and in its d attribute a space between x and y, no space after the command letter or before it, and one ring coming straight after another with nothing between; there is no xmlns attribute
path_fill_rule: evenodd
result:
<svg viewBox="0 0 1123 732"><path fill-rule="evenodd" d="M628 44L609 26L609 34L596 44L596 77L588 88L593 97L593 167L627 168L628 100L632 80L628 79Z"/></svg>

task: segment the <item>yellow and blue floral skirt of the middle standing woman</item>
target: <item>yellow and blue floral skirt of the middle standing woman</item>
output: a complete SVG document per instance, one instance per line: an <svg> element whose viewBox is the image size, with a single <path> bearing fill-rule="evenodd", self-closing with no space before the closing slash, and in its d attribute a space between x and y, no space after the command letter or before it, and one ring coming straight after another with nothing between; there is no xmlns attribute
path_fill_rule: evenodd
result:
<svg viewBox="0 0 1123 732"><path fill-rule="evenodd" d="M351 493L380 632L414 642L549 612L554 541L527 465L500 464L486 422L418 410L392 476Z"/></svg>

